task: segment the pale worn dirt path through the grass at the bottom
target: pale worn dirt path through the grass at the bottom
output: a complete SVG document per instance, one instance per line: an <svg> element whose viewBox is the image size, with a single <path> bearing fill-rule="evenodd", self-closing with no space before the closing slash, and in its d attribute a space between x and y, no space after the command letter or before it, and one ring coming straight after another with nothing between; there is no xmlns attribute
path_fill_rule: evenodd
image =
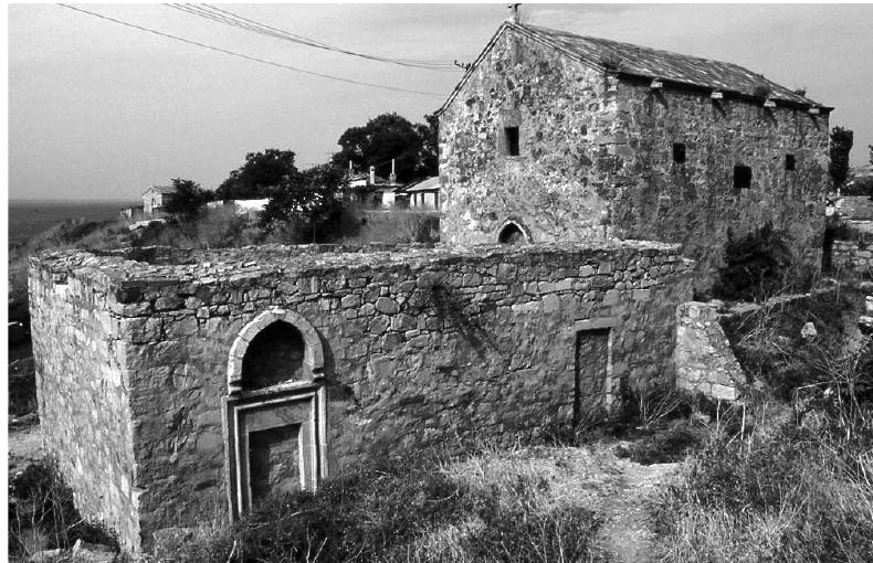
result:
<svg viewBox="0 0 873 563"><path fill-rule="evenodd" d="M640 465L616 460L616 480L599 495L597 512L606 520L600 548L609 561L654 562L654 532L646 504L664 485L675 479L682 464Z"/></svg>

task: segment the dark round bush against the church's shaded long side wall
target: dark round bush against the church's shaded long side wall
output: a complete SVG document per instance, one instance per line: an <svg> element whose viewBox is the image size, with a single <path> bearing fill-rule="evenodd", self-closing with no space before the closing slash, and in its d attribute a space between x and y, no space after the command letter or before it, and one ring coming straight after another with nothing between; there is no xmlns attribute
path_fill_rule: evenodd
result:
<svg viewBox="0 0 873 563"><path fill-rule="evenodd" d="M792 264L786 235L770 223L741 238L728 231L724 261L713 293L740 300L764 300L786 289Z"/></svg>

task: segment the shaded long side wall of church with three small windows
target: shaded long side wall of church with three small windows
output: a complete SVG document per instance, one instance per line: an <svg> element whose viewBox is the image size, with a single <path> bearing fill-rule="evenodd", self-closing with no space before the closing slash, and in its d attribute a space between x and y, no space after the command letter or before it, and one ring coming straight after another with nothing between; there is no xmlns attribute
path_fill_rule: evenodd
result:
<svg viewBox="0 0 873 563"><path fill-rule="evenodd" d="M622 79L616 128L627 144L610 149L622 156L612 177L619 236L681 243L705 277L722 265L728 229L741 236L771 222L797 258L821 264L827 114ZM685 146L684 163L673 144ZM750 188L734 188L735 164L751 168Z"/></svg>

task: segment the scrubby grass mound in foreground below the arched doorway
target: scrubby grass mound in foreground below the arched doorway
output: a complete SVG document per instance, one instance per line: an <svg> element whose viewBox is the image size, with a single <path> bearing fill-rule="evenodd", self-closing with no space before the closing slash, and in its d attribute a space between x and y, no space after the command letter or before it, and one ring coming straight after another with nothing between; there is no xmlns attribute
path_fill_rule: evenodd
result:
<svg viewBox="0 0 873 563"><path fill-rule="evenodd" d="M595 561L593 512L520 469L392 459L266 501L173 561Z"/></svg>

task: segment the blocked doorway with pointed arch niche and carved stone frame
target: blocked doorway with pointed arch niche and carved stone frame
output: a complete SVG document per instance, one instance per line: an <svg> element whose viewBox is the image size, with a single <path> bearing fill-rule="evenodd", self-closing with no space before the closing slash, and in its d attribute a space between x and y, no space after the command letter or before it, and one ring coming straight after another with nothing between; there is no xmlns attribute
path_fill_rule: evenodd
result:
<svg viewBox="0 0 873 563"><path fill-rule="evenodd" d="M326 477L323 375L322 339L296 311L263 311L234 339L223 399L234 518Z"/></svg>

